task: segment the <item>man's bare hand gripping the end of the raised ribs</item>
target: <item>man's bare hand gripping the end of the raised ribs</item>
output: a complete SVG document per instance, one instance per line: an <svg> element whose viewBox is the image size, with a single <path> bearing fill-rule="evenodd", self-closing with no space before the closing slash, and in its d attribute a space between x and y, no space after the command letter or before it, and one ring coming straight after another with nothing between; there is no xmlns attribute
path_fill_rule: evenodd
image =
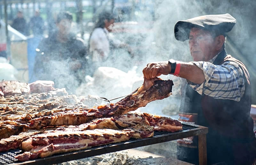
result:
<svg viewBox="0 0 256 165"><path fill-rule="evenodd" d="M146 79L153 79L162 74L169 74L171 72L171 64L168 61L148 63L142 72Z"/></svg>

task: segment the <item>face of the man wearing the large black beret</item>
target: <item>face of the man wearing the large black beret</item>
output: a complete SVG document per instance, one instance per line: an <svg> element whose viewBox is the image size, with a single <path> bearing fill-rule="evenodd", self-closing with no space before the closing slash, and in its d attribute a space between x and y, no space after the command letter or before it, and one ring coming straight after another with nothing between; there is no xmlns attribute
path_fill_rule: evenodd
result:
<svg viewBox="0 0 256 165"><path fill-rule="evenodd" d="M189 49L194 61L209 61L215 55L214 38L209 31L192 28L189 33Z"/></svg>

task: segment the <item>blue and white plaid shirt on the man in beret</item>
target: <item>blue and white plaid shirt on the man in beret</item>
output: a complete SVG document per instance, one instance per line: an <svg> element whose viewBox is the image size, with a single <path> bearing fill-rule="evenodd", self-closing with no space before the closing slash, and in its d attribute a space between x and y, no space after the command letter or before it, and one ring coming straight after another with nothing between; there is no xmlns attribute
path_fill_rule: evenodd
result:
<svg viewBox="0 0 256 165"><path fill-rule="evenodd" d="M208 62L192 62L204 71L205 81L201 85L188 80L187 82L201 95L205 94L215 99L240 101L245 91L243 71L238 64L230 61L221 65L212 64L218 55Z"/></svg>

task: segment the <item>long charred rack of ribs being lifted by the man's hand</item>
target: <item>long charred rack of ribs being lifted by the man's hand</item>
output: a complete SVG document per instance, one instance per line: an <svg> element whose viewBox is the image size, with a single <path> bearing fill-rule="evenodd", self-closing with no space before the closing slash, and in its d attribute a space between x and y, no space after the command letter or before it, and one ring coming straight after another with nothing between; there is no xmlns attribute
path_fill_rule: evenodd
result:
<svg viewBox="0 0 256 165"><path fill-rule="evenodd" d="M122 115L129 111L134 111L140 107L145 107L149 102L161 100L172 94L172 80L156 79L152 86L138 93L138 88L132 94L116 103L108 103L94 108L84 110L71 110L52 116L44 116L30 120L30 128L40 129L45 126L54 125L79 125L87 123L92 119Z"/></svg>

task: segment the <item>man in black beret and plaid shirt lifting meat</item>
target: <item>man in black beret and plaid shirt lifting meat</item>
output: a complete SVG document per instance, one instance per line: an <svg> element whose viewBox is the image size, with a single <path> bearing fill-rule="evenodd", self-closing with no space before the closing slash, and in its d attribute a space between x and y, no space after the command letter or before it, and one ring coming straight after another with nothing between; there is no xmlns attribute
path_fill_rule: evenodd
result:
<svg viewBox="0 0 256 165"><path fill-rule="evenodd" d="M208 164L252 164L256 158L256 140L250 117L251 85L243 63L225 51L225 34L236 23L229 14L205 15L179 21L175 38L189 40L195 62L169 61L149 63L143 74L152 79L173 74L187 79L179 120L209 128ZM177 141L178 159L198 164L196 137Z"/></svg>

